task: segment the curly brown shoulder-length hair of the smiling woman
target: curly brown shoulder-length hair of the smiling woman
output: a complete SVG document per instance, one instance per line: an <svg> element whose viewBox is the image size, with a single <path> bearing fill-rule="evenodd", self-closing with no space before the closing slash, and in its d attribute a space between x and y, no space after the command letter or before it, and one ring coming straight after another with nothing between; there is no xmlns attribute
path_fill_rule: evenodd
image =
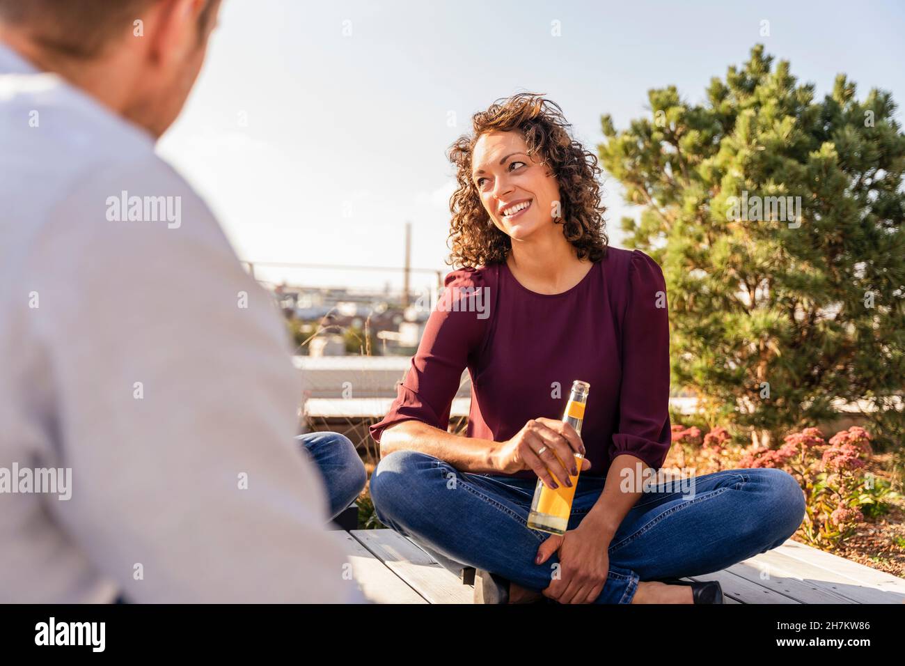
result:
<svg viewBox="0 0 905 666"><path fill-rule="evenodd" d="M487 111L472 116L472 133L455 140L447 157L456 166L459 187L450 198L452 254L446 263L473 266L505 261L512 246L510 236L491 223L481 204L481 195L472 180L474 144L491 131L519 130L529 146L529 155L538 157L551 169L559 183L563 235L576 247L579 259L604 258L607 246L605 207L600 202L600 167L593 152L570 136L571 125L554 101L543 94L519 92L494 101Z"/></svg>

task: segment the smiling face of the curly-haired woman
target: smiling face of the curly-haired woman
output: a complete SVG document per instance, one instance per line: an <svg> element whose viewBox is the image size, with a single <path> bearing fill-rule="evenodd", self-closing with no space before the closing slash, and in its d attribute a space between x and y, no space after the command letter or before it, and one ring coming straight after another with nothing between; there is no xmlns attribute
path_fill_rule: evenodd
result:
<svg viewBox="0 0 905 666"><path fill-rule="evenodd" d="M474 144L472 181L493 224L516 240L552 232L559 183L518 131L482 134ZM558 213L557 213L558 215Z"/></svg>

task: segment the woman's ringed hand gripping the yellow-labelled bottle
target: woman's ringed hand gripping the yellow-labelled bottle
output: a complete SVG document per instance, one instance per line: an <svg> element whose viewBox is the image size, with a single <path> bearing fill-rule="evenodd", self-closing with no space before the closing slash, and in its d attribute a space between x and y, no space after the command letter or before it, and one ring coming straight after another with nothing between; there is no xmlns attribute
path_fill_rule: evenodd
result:
<svg viewBox="0 0 905 666"><path fill-rule="evenodd" d="M529 420L515 437L502 442L495 452L496 468L506 474L533 469L547 487L557 487L557 481L570 486L569 475L578 473L576 453L584 456L585 445L575 429L565 421L541 417ZM582 458L581 468L590 467L590 461Z"/></svg>

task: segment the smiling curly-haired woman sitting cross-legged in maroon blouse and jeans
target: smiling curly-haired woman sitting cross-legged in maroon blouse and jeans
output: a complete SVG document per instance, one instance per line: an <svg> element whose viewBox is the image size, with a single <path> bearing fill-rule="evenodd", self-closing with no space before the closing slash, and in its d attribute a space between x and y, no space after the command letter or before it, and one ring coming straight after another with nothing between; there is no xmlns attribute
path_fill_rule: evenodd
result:
<svg viewBox="0 0 905 666"><path fill-rule="evenodd" d="M475 585L484 601L698 603L696 589L663 581L782 544L804 516L801 489L770 468L696 478L693 497L620 487L660 468L671 446L660 266L607 247L600 169L556 104L521 93L472 124L449 153L451 258L464 267L446 276L395 402L371 428L377 517L486 572ZM465 368L472 407L458 436L447 426ZM581 437L560 421L574 380L591 386ZM566 534L529 529L537 478L567 483L558 460L573 450L587 459Z"/></svg>

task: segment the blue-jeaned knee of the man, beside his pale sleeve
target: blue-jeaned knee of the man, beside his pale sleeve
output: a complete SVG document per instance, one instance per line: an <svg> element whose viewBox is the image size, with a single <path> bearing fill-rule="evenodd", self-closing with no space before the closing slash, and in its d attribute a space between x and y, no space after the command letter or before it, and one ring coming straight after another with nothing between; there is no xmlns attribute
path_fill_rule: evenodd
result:
<svg viewBox="0 0 905 666"><path fill-rule="evenodd" d="M297 438L327 487L330 519L343 512L365 487L367 472L355 445L338 432L309 432Z"/></svg>

